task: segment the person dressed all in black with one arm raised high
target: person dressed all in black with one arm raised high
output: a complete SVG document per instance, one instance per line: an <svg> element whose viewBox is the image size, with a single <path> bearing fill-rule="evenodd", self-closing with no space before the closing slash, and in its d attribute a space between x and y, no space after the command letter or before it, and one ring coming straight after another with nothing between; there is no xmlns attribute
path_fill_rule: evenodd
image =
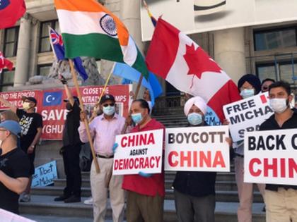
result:
<svg viewBox="0 0 297 222"><path fill-rule="evenodd" d="M54 201L65 203L81 202L81 168L79 166L79 154L81 152L81 140L79 139L78 127L81 109L77 97L73 97L66 79L61 75L61 82L67 95L66 110L68 111L63 130L62 155L64 171L66 174L66 187L60 197Z"/></svg>

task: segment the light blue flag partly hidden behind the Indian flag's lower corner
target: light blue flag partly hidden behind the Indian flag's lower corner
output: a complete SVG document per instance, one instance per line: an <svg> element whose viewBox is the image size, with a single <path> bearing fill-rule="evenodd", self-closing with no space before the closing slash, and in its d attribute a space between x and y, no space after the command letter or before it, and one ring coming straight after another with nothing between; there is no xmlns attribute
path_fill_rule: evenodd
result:
<svg viewBox="0 0 297 222"><path fill-rule="evenodd" d="M124 78L125 82L127 82L127 80L138 82L141 75L139 71L124 63L115 63L112 73ZM149 94L151 95L151 106L153 107L155 99L163 93L163 90L156 76L151 72L148 73L148 80L143 78L141 85L148 89Z"/></svg>

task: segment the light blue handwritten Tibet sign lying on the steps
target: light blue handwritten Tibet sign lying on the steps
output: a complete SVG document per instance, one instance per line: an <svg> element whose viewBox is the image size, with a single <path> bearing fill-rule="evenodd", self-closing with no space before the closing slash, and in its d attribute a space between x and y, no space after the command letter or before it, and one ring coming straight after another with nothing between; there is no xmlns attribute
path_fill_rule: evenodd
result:
<svg viewBox="0 0 297 222"><path fill-rule="evenodd" d="M35 174L32 176L32 187L45 187L54 183L58 178L57 163L51 161L35 168Z"/></svg>

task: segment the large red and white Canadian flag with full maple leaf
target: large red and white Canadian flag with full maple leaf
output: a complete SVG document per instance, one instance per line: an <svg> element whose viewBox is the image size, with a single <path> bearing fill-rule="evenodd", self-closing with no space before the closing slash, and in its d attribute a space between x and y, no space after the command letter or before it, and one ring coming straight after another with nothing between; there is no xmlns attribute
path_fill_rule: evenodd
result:
<svg viewBox="0 0 297 222"><path fill-rule="evenodd" d="M241 99L231 78L187 35L162 18L158 19L146 55L148 70L177 90L205 99L224 119L223 105Z"/></svg>

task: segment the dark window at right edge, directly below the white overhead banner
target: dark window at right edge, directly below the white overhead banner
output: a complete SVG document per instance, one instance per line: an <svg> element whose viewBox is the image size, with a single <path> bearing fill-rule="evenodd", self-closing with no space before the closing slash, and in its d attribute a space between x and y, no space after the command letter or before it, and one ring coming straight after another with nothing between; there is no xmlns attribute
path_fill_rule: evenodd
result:
<svg viewBox="0 0 297 222"><path fill-rule="evenodd" d="M297 46L297 27L254 32L255 51Z"/></svg>

